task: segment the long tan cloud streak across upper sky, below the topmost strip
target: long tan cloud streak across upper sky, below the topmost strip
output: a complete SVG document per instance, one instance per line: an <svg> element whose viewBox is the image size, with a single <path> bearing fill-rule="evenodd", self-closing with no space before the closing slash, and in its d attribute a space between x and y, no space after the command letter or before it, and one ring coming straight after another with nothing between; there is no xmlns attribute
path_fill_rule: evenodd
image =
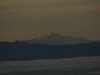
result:
<svg viewBox="0 0 100 75"><path fill-rule="evenodd" d="M77 6L66 6L66 7L55 7L55 8L16 8L6 9L1 11L0 14L33 14L33 15L46 15L46 14L75 14L89 11L100 11L100 5L77 5Z"/></svg>

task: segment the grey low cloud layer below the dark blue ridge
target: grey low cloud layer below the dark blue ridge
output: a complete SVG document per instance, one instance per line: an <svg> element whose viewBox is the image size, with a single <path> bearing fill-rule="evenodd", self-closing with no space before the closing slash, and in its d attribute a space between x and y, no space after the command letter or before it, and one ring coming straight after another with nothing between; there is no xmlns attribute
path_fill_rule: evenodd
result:
<svg viewBox="0 0 100 75"><path fill-rule="evenodd" d="M67 59L46 59L29 61L4 61L0 62L0 74L6 73L31 73L41 74L71 74L100 73L100 57L78 57ZM96 72L98 71L98 72ZM50 74L50 75L51 75ZM17 74L16 74L17 75ZM28 74L26 74L28 75Z"/></svg>

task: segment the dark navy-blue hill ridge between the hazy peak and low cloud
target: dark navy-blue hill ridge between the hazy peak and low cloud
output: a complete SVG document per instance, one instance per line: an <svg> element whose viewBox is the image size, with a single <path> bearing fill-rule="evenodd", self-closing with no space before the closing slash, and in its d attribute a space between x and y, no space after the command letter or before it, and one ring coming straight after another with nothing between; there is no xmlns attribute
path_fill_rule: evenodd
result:
<svg viewBox="0 0 100 75"><path fill-rule="evenodd" d="M100 43L44 45L25 42L0 42L0 61L56 59L80 56L100 56Z"/></svg>

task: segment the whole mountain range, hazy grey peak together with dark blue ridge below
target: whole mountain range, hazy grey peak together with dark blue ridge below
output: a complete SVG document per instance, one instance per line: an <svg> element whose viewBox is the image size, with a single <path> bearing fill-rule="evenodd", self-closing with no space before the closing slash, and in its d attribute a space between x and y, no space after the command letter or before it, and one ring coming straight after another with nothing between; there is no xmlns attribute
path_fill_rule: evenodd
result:
<svg viewBox="0 0 100 75"><path fill-rule="evenodd" d="M41 38L0 42L0 61L100 56L100 42L51 32Z"/></svg>

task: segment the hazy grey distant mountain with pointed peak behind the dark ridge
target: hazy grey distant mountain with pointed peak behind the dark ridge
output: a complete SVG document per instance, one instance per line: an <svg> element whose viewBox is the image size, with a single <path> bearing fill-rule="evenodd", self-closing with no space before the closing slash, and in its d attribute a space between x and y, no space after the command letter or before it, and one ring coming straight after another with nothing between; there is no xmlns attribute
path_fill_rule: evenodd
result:
<svg viewBox="0 0 100 75"><path fill-rule="evenodd" d="M85 39L83 37L74 38L71 36L62 36L60 34L51 32L41 38L37 37L31 40L23 40L22 42L48 44L48 45L70 45L70 44L90 43L94 41Z"/></svg>

